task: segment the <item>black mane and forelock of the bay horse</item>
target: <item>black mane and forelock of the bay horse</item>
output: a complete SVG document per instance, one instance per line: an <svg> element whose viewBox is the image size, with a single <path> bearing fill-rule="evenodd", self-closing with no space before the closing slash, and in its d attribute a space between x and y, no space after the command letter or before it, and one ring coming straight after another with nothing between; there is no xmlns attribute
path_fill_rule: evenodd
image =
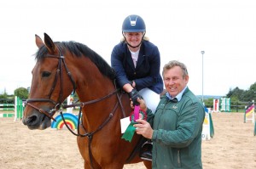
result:
<svg viewBox="0 0 256 169"><path fill-rule="evenodd" d="M79 42L55 42L55 44L58 46L58 48L61 49L61 53L65 55L66 50L70 51L77 57L81 57L84 55L85 57L88 57L96 66L97 68L102 72L103 75L108 76L110 79L115 78L115 72L113 68L108 65L105 59L102 59L102 57L97 54L95 51L87 47L86 45L79 43ZM48 54L48 50L45 46L38 49L38 52L35 54L35 59L44 59L46 57L46 54Z"/></svg>

